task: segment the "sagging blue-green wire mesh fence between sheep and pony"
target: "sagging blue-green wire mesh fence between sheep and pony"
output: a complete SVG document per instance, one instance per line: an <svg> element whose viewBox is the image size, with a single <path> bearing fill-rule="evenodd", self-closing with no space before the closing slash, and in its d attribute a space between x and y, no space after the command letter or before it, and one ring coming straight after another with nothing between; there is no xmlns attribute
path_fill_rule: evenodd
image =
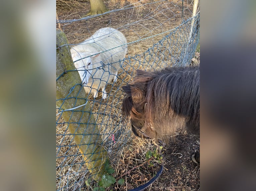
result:
<svg viewBox="0 0 256 191"><path fill-rule="evenodd" d="M98 29L112 27L126 37L127 43L122 45L128 47L128 53L123 60L117 62L120 70L115 82L101 79L106 83L106 99L102 99L104 92L101 89L98 89L96 97L90 92L83 93L83 85L87 84L83 84L80 78L76 78L78 81L73 84L60 83L68 91L56 100L56 190L83 190L90 183L88 180L94 179L94 174L99 171L98 168L93 171L94 166L88 164L92 161L104 163L106 159L103 160L103 155L106 154L115 169L123 151L130 149L130 145L134 144L130 123L122 116L121 105L122 86L132 81L137 69L154 71L175 65L189 65L195 57L199 43L200 15L191 17L191 1L139 1L129 5L125 3L128 2L124 1L122 9L112 10L108 14L102 14L102 17L90 16L58 21L68 37L67 45L71 49ZM111 50L109 47L104 49L107 53ZM114 53L111 53L109 58L113 56ZM81 56L81 59L90 57L91 55ZM94 68L96 71L111 73L109 67L113 65L112 62L100 64ZM90 70L85 70L85 73L84 78L87 75L93 79ZM61 75L56 76L57 84L62 80L63 74L74 76L78 75L78 71L75 67L63 71ZM70 108L64 107L70 100L74 100L74 105ZM83 104L78 104L79 101ZM73 132L71 126L74 126ZM78 136L80 139L76 139ZM95 155L95 152L101 152L101 155ZM91 157L93 155L95 157Z"/></svg>

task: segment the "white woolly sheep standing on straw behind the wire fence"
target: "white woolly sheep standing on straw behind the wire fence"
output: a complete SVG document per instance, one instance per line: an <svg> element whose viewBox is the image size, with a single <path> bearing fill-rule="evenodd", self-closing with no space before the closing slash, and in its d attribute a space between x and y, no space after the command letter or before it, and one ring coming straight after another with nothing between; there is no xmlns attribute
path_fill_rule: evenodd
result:
<svg viewBox="0 0 256 191"><path fill-rule="evenodd" d="M112 79L116 81L117 72L127 53L126 43L120 31L107 27L99 29L90 38L71 48L71 56L84 89L88 94L93 93L94 98L100 89L103 92L102 98L107 98L106 85Z"/></svg>

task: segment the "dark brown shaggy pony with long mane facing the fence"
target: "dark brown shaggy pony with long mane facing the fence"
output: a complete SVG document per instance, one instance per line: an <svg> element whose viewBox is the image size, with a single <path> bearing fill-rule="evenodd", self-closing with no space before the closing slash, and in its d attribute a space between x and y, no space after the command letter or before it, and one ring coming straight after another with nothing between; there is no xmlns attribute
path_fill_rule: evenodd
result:
<svg viewBox="0 0 256 191"><path fill-rule="evenodd" d="M158 138L168 143L177 128L199 134L199 65L154 72L137 70L133 82L122 88L126 93L122 110L131 117L136 136L151 138L158 145Z"/></svg>

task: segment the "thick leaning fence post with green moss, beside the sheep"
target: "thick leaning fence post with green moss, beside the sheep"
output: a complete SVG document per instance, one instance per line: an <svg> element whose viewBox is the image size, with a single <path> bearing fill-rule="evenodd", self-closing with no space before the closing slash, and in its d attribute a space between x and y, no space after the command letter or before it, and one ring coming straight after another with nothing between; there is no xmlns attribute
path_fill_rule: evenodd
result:
<svg viewBox="0 0 256 191"><path fill-rule="evenodd" d="M74 108L85 104L87 97L76 70L67 37L63 32L56 31L56 105L61 109ZM67 72L69 71L69 72ZM61 111L61 110L60 110ZM101 146L102 138L96 125L94 115L91 113L89 101L82 107L63 111L62 117L73 134L79 151L84 157L85 164L92 174L92 178L99 180L104 174L104 164L107 160L107 151Z"/></svg>

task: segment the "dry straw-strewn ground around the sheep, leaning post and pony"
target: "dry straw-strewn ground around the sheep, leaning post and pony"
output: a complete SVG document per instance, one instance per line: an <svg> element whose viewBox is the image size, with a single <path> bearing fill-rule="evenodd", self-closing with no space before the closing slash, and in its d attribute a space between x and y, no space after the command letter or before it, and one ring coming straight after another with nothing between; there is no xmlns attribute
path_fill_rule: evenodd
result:
<svg viewBox="0 0 256 191"><path fill-rule="evenodd" d="M135 3L135 1L132 0L109 0L104 2L108 7L113 7L112 9ZM84 9L86 7L85 3L81 1L58 0L56 4L58 17L61 20L79 19L88 11ZM88 5L88 3L86 5ZM174 12L180 11L180 1L173 1L168 5L176 9L173 10ZM80 43L99 28L106 26L118 28L127 37L127 42L135 42L139 39L171 30L180 23L181 16L179 13L175 13L177 15L176 17L170 18L170 16L166 16L172 14L170 9L167 9L167 5L159 4L157 6L139 7L129 10L130 12L120 11L118 13L105 15L101 18L96 17L86 22L79 21L71 23L64 27L63 24L61 24L61 27L63 27L63 31L72 44ZM159 10L164 9L166 9L166 11L159 13ZM187 9L192 9L191 3L188 3ZM185 13L187 16L190 14L189 11ZM89 95L88 97L88 100L91 100L92 111L100 132L102 133L103 146L108 151L111 165L115 169L115 177L119 177L133 167L145 162L146 152L148 150L153 151L154 149L150 141L133 135L130 129L129 119L122 116L121 104L123 91L121 87L132 80L136 69L155 70L166 67L167 64L170 66L170 63L175 61L174 57L180 54L177 39L180 39L182 33L175 33L171 36L172 40L177 40L177 44L174 43L175 46L169 47L169 52L165 50L165 48L168 47L168 43L170 43L168 40L164 41L161 46L155 46L157 49L154 51L153 57L150 57L147 52L148 48L158 43L165 35L166 34L157 35L128 45L127 60L124 62L123 71L119 72L115 84L107 85L106 91L109 94L107 100L101 100L101 93L99 93L96 100L93 99L93 95ZM159 54L160 51L165 54ZM143 54L145 52L146 54ZM167 55L167 52L171 54ZM139 56L134 57L135 55ZM196 62L197 59L194 63ZM58 123L56 125L56 189L92 190L95 182L87 182L88 179L90 179L90 174L86 166L83 165L83 157L77 149L67 124L64 123L61 117L59 118L59 115L56 117L56 121ZM115 137L115 142L112 139L112 135ZM177 141L173 143L173 145L166 147L163 151L166 159L164 173L151 186L150 190L189 190L189 186L186 185L187 182L191 184L195 183L194 187L199 185L199 167L194 164L191 165L190 163L186 164L180 162L181 159L182 161L190 161L189 157L191 153L195 152L195 150L199 150L200 143L195 143L195 139L196 138L193 136L185 137L177 133ZM180 146L180 148L177 148L177 145ZM180 157L180 154L176 153L181 153L182 157ZM122 177L125 179L125 185L119 188L115 185L116 187L107 190L127 190L146 183L157 171L156 162L153 163L153 167L149 167L148 164L145 164ZM67 188L67 184L69 188ZM193 190L193 186L190 188Z"/></svg>

